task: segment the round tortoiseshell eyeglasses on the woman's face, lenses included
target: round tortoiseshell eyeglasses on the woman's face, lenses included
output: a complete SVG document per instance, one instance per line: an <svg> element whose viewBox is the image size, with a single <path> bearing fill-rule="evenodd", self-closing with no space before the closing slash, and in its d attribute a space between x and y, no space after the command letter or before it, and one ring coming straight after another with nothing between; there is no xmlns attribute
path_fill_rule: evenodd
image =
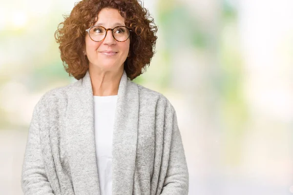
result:
<svg viewBox="0 0 293 195"><path fill-rule="evenodd" d="M119 42L124 42L129 38L130 32L126 26L116 26L115 28L105 28L104 26L92 26L85 31L88 32L90 39L100 42L105 39L108 30L111 30L112 36Z"/></svg>

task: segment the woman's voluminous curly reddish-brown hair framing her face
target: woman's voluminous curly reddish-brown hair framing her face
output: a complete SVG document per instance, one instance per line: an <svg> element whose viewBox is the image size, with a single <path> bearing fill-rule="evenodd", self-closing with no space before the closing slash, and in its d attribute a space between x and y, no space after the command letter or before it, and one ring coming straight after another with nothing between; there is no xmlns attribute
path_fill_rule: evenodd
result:
<svg viewBox="0 0 293 195"><path fill-rule="evenodd" d="M140 2L140 3L139 3ZM130 80L143 74L146 65L155 54L157 26L142 1L138 0L81 0L75 3L69 16L58 25L54 36L60 44L61 59L65 71L76 79L84 77L88 70L88 59L83 55L85 30L98 20L103 8L118 9L125 19L130 33L129 57L124 62L124 70ZM67 64L67 66L66 66Z"/></svg>

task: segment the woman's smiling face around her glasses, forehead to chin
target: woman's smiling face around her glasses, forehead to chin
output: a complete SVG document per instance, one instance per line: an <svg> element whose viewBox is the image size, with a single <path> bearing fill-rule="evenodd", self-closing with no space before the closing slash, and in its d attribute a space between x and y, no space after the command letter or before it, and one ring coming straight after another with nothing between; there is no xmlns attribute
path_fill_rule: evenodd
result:
<svg viewBox="0 0 293 195"><path fill-rule="evenodd" d="M114 28L116 26L125 26L124 18L117 9L104 8L98 14L98 20L94 25ZM96 42L90 39L88 33L85 35L85 55L89 60L89 66L100 70L118 70L122 68L129 52L130 39L124 42L115 40L110 30L103 41ZM114 55L107 55L103 51L117 52ZM122 68L123 69L123 68Z"/></svg>

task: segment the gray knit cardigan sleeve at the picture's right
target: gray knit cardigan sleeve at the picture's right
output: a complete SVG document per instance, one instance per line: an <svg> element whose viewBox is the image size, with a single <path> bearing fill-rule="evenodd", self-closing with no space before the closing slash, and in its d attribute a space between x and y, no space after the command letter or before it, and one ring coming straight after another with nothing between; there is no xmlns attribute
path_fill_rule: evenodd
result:
<svg viewBox="0 0 293 195"><path fill-rule="evenodd" d="M167 173L161 195L188 195L188 167L174 109L171 121Z"/></svg>

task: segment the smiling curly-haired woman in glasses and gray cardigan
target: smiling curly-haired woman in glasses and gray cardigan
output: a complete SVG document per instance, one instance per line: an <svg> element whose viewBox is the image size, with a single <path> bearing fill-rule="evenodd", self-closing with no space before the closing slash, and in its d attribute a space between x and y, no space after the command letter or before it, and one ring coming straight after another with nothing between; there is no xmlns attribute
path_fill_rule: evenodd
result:
<svg viewBox="0 0 293 195"><path fill-rule="evenodd" d="M187 195L176 112L132 82L157 27L136 0L82 0L56 31L76 82L34 108L22 168L25 195ZM67 66L65 66L67 64Z"/></svg>

